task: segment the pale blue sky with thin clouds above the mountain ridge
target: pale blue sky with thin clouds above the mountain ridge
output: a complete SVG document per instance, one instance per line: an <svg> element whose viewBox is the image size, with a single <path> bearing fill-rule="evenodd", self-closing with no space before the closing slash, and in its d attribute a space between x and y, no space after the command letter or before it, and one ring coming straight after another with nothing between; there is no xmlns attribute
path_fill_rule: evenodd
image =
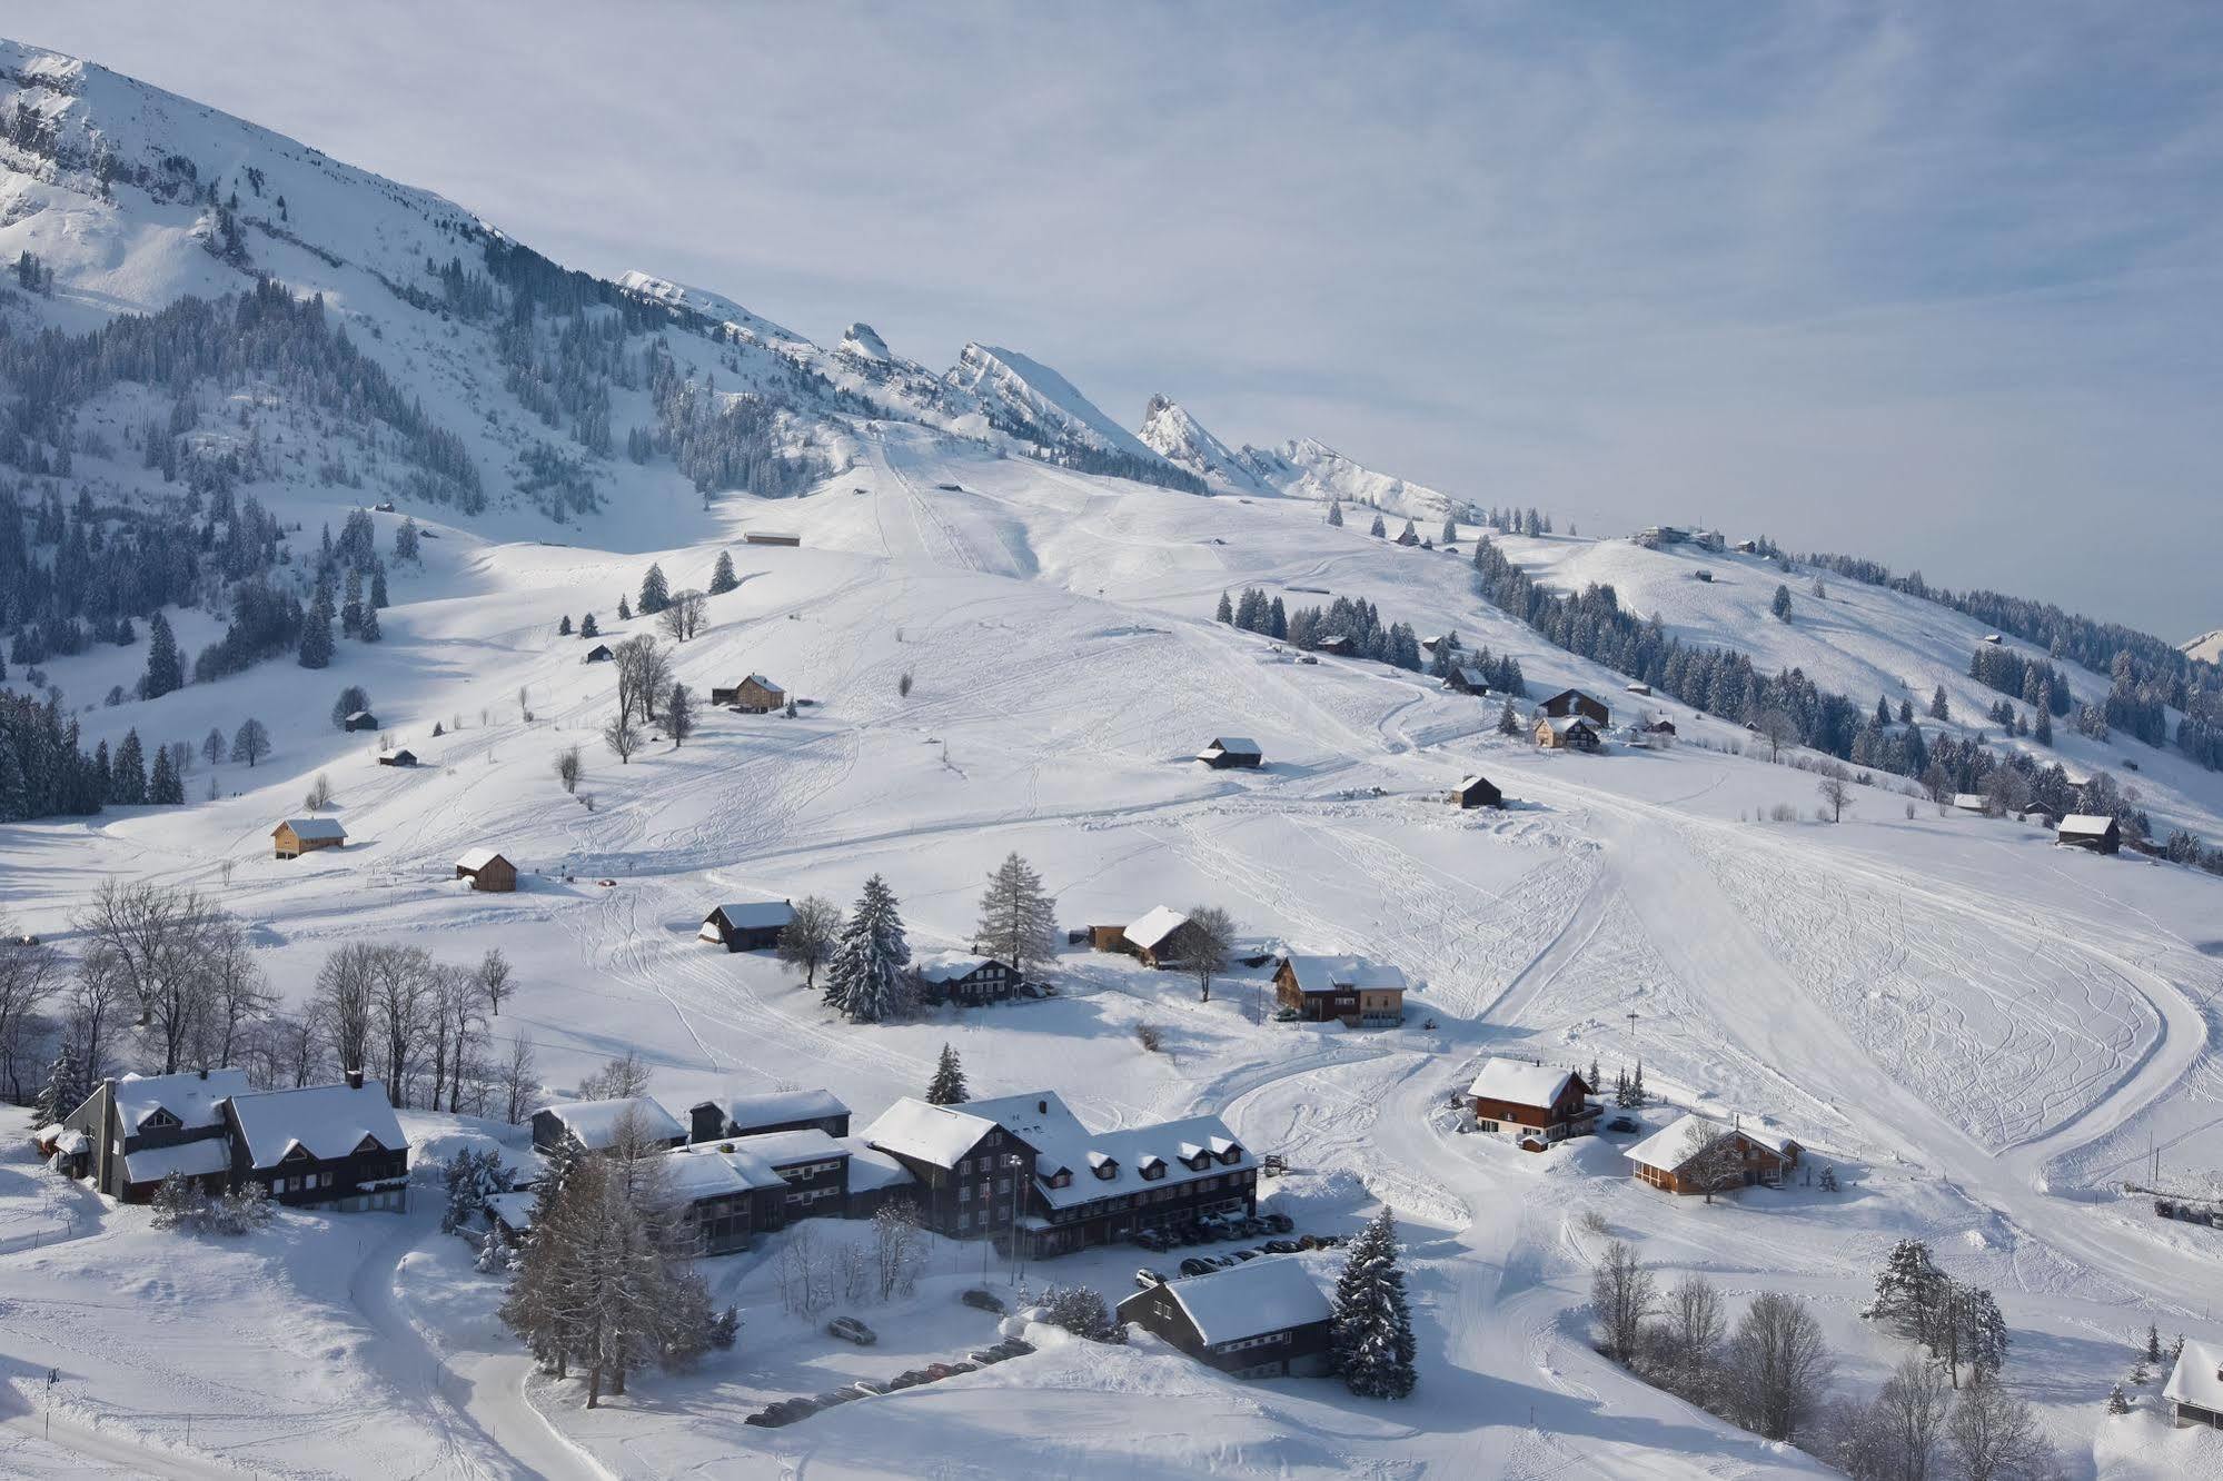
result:
<svg viewBox="0 0 2223 1481"><path fill-rule="evenodd" d="M313 20L309 20L313 16ZM2223 7L271 7L0 29L820 340L2223 625Z"/></svg>

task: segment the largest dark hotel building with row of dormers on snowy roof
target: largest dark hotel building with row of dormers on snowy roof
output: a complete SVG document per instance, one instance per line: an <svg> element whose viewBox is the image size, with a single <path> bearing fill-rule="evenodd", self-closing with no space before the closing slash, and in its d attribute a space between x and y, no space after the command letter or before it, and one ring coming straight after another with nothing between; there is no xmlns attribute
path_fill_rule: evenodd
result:
<svg viewBox="0 0 2223 1481"><path fill-rule="evenodd" d="M1025 1259L1258 1205L1258 1161L1218 1116L1091 1132L1047 1090L965 1105L907 1096L865 1143L918 1181L925 1227L1016 1243Z"/></svg>

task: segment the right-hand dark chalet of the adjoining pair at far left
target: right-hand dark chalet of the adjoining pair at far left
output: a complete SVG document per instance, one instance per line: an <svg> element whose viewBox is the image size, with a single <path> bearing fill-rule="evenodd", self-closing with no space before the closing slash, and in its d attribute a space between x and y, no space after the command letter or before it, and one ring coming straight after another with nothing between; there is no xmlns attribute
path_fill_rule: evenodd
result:
<svg viewBox="0 0 2223 1481"><path fill-rule="evenodd" d="M298 1085L225 1101L233 1185L262 1183L276 1203L342 1212L409 1207L409 1136L378 1081Z"/></svg>

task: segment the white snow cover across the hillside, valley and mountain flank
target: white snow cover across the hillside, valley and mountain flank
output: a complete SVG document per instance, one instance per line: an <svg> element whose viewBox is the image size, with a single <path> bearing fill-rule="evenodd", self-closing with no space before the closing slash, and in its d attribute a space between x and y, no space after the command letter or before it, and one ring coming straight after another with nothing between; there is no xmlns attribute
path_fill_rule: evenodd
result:
<svg viewBox="0 0 2223 1481"><path fill-rule="evenodd" d="M9 58L16 73L60 67ZM231 138L229 122L178 100L140 100L98 69L60 71L80 93L20 76L13 87L42 107L91 98ZM0 227L0 249L18 249L7 233L44 233L36 249L58 265L56 314L113 311L100 282L167 294L200 282L193 274L216 271L207 282L218 287L238 276L207 267L218 258L191 240L191 220L165 227L178 240L151 225L133 236L169 220L138 187L118 187L111 205L44 180L22 153L7 165L13 198L38 205ZM382 362L469 427L500 471L502 438L527 436L527 416L491 351L442 347L438 320L378 278L380 231L402 242L391 265L422 274L411 233L440 236L442 207L367 180L351 185L367 240L331 249L342 267L307 249L282 256L287 242L260 229L251 256L322 285L360 316L351 325L378 325ZM305 200L318 200L313 182ZM80 238L56 227L69 213L111 231L113 265L93 249L71 256ZM647 280L631 289L665 296ZM838 385L887 387L874 405L896 405L925 376L863 325L816 351L731 300L671 291L674 307L756 336L656 331L676 356L716 367L720 389L840 362L856 380ZM983 351L974 369L967 385L936 382L954 398L940 402L947 423L805 405L796 436L843 438L845 467L798 498L718 489L705 509L669 465L616 460L611 511L560 534L529 507L420 509L438 538L422 565L396 563L385 643L342 645L322 674L278 660L91 707L129 683L144 652L56 658L51 683L87 745L113 745L127 727L198 738L258 716L273 754L251 769L196 765L189 807L0 829L0 901L18 930L73 954L73 918L104 878L207 889L247 921L258 963L296 1010L342 943L407 941L442 963L500 947L518 996L489 1021L487 1050L505 1058L531 1041L549 1096L634 1050L667 1107L825 1085L869 1119L916 1094L949 1043L978 1094L1054 1087L1089 1125L1225 1114L1245 1145L1287 1156L1292 1176L1265 1201L1300 1227L1349 1232L1376 1207L1396 1212L1418 1392L1363 1403L1327 1381L1225 1381L1152 1341L1103 1350L1038 1334L1034 1359L758 1430L742 1417L767 1399L885 1379L987 1339L989 1323L956 1299L965 1285L1016 1294L1023 1274L1116 1299L1145 1263L1114 1248L1011 1272L980 1245L938 1241L914 1299L845 1308L880 1332L858 1350L825 1336L823 1314L782 1310L778 1236L702 1263L716 1299L742 1308L740 1348L687 1374L636 1374L629 1396L585 1412L576 1385L531 1374L491 1314L498 1281L436 1227L431 1163L460 1141L522 1161L520 1127L411 1112L422 1179L411 1214L285 1214L265 1234L218 1243L156 1232L144 1212L44 1176L22 1150L22 1112L0 1110L0 1468L914 1477L998 1474L1023 1448L1029 1468L1074 1477L1816 1474L1603 1361L1585 1310L1592 1263L1605 1239L1629 1239L1665 1283L1716 1279L1732 1316L1761 1290L1805 1299L1852 1394L1905 1354L1856 1316L1901 1236L1932 1241L1958 1279L1996 1292L2016 1341L2005 1381L2038 1405L2072 1474L2223 1463L2223 1437L2170 1432L2150 1392L2123 1419L2101 1403L2147 1321L2163 1339L2214 1339L2210 1312L2223 1310L2214 1232L2161 1223L2147 1199L2121 1192L2150 1174L2154 1152L2170 1185L2223 1183L2216 878L2063 852L2034 827L1914 805L1887 778L1856 789L1843 825L1818 823L1810 774L1743 754L1738 727L1627 696L1621 676L1481 607L1461 556L1374 540L1360 520L1332 529L1296 503L1374 498L1441 518L1447 496L1303 443L1252 463L1280 469L1267 483L1292 500L1198 500L1000 458L949 436L965 407L980 411L983 436L994 405L1063 427L1069 443L1105 438L1074 443L1100 454L1120 445L1063 378L1003 351ZM147 414L102 407L107 420L87 427L122 447ZM482 434L489 414L496 431ZM625 391L620 416L640 425L645 391ZM80 476L129 489L144 469L87 454ZM313 476L256 494L309 531L360 498ZM382 551L398 518L373 518ZM740 543L765 527L803 545ZM1503 545L1554 585L1612 583L1627 607L1694 643L1734 643L1861 700L1943 683L1956 716L1990 703L1963 678L1981 634L1927 603L1836 580L1812 596L1801 574L1783 625L1767 616L1781 574L1765 563L1707 558L1718 580L1703 587L1694 560L1672 551ZM614 676L582 663L585 645L558 623L591 609L609 636L651 632L616 620L618 596L638 592L651 558L674 587L707 585L720 551L740 585L709 600L700 636L674 645L676 676L702 692L765 672L816 703L791 720L707 712L685 745L656 740L620 763L598 743ZM1374 663L1300 665L1214 623L1218 596L1245 585L1289 605L1365 598L1423 634L1456 629L1516 656L1532 694L1581 685L1616 718L1672 716L1683 743L1541 754L1494 734L1494 700ZM213 636L207 614L178 618L189 647ZM378 767L373 736L325 720L342 683L369 689L422 767ZM2099 676L2072 672L2072 683L2083 696ZM1256 736L1267 765L1225 774L1189 761L1227 732ZM591 805L554 776L574 745ZM2110 752L2132 754L2063 743L2090 765ZM2139 754L2147 805L2223 838L2219 778ZM1512 805L1445 807L1445 787L1472 772ZM349 847L271 858L269 827L318 776ZM1763 823L1776 809L1798 821ZM516 894L458 889L451 863L478 845L520 863ZM1040 869L1065 927L1220 903L1258 950L1396 963L1414 983L1409 1021L1369 1034L1280 1025L1263 1012L1263 972L1232 972L1200 1001L1187 976L1069 947L1049 967L1056 998L858 1027L771 956L696 941L711 903L849 901L878 872L914 950L965 947L980 883L1009 852ZM1140 1025L1167 1052L1145 1052ZM1652 1127L1683 1110L1743 1116L1796 1136L1845 1190L1794 1183L1678 1203L1627 1176L1627 1143L1614 1136L1527 1156L1461 1134L1445 1099L1489 1054L1596 1058L1607 1079L1641 1061L1669 1101L1647 1112ZM1303 1259L1334 1279L1332 1254ZM51 1443L36 1425L49 1368L64 1374Z"/></svg>

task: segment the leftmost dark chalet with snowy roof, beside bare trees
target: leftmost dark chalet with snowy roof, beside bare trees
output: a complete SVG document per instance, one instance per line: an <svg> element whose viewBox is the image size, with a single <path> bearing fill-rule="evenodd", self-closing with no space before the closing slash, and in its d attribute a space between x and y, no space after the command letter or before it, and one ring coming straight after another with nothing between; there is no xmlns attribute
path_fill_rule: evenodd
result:
<svg viewBox="0 0 2223 1481"><path fill-rule="evenodd" d="M91 1179L124 1203L151 1199L171 1172L222 1192L231 1185L225 1101L242 1094L247 1074L240 1070L127 1074L100 1081L62 1116L51 1141L64 1154L64 1172Z"/></svg>

